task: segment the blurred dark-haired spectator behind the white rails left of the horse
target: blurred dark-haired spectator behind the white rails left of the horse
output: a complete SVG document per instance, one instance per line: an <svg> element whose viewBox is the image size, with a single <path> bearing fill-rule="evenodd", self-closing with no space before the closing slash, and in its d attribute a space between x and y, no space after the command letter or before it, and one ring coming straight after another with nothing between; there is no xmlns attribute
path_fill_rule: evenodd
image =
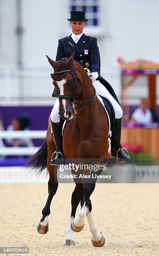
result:
<svg viewBox="0 0 159 256"><path fill-rule="evenodd" d="M18 118L12 119L11 124L7 127L7 131L27 131L31 118L27 114L22 114ZM8 147L28 147L33 146L30 138L9 138L6 140Z"/></svg>

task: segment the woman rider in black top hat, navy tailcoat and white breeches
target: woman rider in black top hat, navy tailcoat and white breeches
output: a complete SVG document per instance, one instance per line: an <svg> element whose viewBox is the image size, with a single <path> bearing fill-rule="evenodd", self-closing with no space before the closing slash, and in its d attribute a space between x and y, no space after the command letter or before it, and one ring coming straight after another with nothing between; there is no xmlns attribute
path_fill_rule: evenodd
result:
<svg viewBox="0 0 159 256"><path fill-rule="evenodd" d="M75 51L74 60L77 61L86 71L91 74L90 79L93 82L93 86L97 94L107 97L114 107L115 112L115 131L119 141L121 139L122 131L122 108L120 107L117 97L114 93L114 97L109 93L113 89L109 83L106 82L106 86L109 86L109 91L100 82L100 54L97 46L97 38L86 36L83 33L83 29L86 25L88 19L85 18L85 12L82 11L71 11L70 12L70 26L72 29L72 34L68 37L62 38L58 42L56 61L62 58L69 58L73 51ZM59 142L60 135L62 133L62 126L60 123L59 112L59 99L57 98L55 105L51 112L52 121L52 132L55 138L56 147ZM63 154L62 143L60 146L60 152ZM118 152L118 154L117 154ZM119 150L119 143L117 143L116 138L111 138L111 154L114 157L118 156L119 161L129 160L129 156L124 153L122 149ZM61 154L56 154L55 159L52 159L50 164L56 165L58 160L60 161Z"/></svg>

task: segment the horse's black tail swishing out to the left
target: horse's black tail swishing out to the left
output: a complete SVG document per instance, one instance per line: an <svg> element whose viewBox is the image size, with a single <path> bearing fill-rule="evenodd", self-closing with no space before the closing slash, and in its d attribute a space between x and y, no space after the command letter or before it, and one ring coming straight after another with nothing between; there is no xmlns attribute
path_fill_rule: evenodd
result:
<svg viewBox="0 0 159 256"><path fill-rule="evenodd" d="M37 173L41 173L47 167L47 141L43 141L42 146L39 148L32 158L25 164L25 169L31 168Z"/></svg>

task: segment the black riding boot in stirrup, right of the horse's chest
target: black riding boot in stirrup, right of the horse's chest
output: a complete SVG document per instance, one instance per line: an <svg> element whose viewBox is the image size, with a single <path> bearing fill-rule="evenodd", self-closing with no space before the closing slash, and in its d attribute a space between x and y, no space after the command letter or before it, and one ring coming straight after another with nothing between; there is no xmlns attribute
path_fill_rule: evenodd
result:
<svg viewBox="0 0 159 256"><path fill-rule="evenodd" d="M117 157L119 162L130 160L129 155L124 153L122 149L119 150L119 148L122 148L120 145L121 134L122 134L122 118L115 119L114 131L112 131L112 137L111 137L111 154L112 156Z"/></svg>

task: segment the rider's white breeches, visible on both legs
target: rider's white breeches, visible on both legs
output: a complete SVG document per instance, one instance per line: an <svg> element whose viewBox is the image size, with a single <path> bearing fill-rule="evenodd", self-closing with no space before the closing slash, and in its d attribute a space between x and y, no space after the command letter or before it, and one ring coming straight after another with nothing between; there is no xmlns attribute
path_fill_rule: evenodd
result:
<svg viewBox="0 0 159 256"><path fill-rule="evenodd" d="M118 102L112 97L112 95L108 92L108 90L104 87L104 85L101 84L99 80L96 80L93 82L93 86L97 94L108 98L108 100L110 100L110 102L112 103L114 112L115 112L115 119L122 118L122 108L120 107ZM57 98L55 105L51 111L51 120L53 123L60 122L60 115L58 113L59 113L59 99Z"/></svg>

